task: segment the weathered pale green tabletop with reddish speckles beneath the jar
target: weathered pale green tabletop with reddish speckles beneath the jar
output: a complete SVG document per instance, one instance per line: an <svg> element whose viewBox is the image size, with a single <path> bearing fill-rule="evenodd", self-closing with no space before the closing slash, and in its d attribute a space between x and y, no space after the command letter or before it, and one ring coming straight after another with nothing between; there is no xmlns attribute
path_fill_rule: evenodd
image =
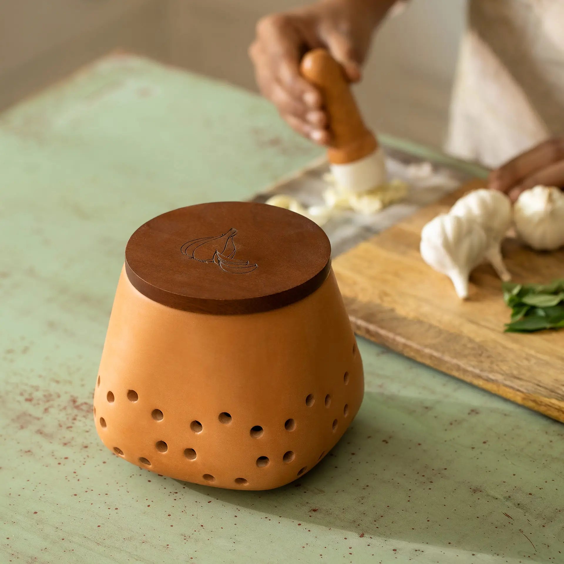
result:
<svg viewBox="0 0 564 564"><path fill-rule="evenodd" d="M0 117L0 562L564 562L564 426L360 341L366 395L267 492L125 464L91 398L129 235L305 165L257 96L133 56Z"/></svg>

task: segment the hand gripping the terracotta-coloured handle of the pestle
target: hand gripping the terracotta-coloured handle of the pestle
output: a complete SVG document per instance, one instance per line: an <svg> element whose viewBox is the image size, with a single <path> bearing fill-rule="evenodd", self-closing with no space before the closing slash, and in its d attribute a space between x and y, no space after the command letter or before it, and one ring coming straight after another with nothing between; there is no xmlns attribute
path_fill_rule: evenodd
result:
<svg viewBox="0 0 564 564"><path fill-rule="evenodd" d="M298 133L319 144L331 139L323 99L299 74L309 50L325 47L351 82L361 78L373 29L394 0L323 0L263 17L249 47L262 94Z"/></svg>

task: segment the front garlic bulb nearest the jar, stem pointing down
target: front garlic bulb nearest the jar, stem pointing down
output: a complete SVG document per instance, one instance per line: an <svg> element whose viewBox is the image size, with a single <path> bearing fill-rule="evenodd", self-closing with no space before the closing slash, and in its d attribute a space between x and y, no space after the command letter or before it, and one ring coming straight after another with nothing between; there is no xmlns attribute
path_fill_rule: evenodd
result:
<svg viewBox="0 0 564 564"><path fill-rule="evenodd" d="M423 260L450 277L462 299L468 297L470 271L482 262L487 249L486 233L469 217L440 214L421 231Z"/></svg>

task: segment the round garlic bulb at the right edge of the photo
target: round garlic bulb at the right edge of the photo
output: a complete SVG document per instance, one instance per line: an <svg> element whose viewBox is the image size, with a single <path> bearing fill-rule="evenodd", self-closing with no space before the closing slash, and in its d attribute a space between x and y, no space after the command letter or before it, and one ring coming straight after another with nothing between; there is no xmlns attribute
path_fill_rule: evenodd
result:
<svg viewBox="0 0 564 564"><path fill-rule="evenodd" d="M515 229L535 250L564 245L564 194L554 186L525 190L514 205Z"/></svg>

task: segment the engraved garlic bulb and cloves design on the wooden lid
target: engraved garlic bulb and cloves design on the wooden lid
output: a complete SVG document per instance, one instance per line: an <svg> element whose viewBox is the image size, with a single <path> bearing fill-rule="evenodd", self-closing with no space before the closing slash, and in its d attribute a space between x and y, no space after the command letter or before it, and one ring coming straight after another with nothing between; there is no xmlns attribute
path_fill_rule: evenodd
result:
<svg viewBox="0 0 564 564"><path fill-rule="evenodd" d="M180 252L196 261L215 263L225 272L247 274L257 268L257 264L235 258L237 249L233 237L237 230L233 227L218 237L202 237L184 243Z"/></svg>

